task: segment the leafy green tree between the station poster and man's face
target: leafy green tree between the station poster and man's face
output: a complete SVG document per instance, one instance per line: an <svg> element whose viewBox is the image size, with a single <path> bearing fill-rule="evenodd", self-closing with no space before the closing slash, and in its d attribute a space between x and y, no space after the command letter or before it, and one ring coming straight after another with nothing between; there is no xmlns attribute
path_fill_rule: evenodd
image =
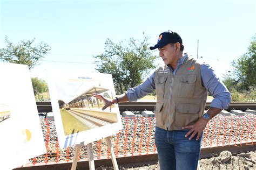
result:
<svg viewBox="0 0 256 170"><path fill-rule="evenodd" d="M138 86L151 69L156 68L149 49L149 37L139 41L134 38L120 41L115 44L111 39L106 39L105 52L93 56L96 61L96 70L100 73L112 74L117 94L123 94L129 87Z"/></svg>

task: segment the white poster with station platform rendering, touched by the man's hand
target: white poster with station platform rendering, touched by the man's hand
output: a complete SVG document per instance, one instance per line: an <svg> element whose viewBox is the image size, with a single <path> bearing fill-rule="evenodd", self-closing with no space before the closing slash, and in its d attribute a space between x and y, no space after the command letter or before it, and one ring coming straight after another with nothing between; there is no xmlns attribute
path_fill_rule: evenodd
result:
<svg viewBox="0 0 256 170"><path fill-rule="evenodd" d="M116 97L111 74L48 70L47 76L61 148L92 143L122 129L118 105L103 111L104 101L93 97Z"/></svg>

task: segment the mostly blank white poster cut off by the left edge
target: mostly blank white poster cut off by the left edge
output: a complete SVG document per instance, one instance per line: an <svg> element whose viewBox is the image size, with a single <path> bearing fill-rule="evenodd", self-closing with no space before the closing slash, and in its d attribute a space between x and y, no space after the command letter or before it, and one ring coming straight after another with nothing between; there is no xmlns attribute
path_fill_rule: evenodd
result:
<svg viewBox="0 0 256 170"><path fill-rule="evenodd" d="M46 153L29 68L0 62L0 169Z"/></svg>

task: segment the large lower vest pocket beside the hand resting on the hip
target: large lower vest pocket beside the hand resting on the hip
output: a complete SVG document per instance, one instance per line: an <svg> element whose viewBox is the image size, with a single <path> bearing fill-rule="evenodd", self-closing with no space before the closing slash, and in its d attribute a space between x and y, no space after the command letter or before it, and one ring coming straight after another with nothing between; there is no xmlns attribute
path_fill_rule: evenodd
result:
<svg viewBox="0 0 256 170"><path fill-rule="evenodd" d="M175 123L186 126L198 120L199 106L197 104L176 103Z"/></svg>

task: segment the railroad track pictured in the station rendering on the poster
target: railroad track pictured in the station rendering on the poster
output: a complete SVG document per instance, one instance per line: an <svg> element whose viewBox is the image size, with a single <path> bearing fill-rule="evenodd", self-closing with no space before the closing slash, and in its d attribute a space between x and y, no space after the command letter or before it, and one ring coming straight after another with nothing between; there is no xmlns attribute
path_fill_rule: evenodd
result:
<svg viewBox="0 0 256 170"><path fill-rule="evenodd" d="M91 115L87 115L83 112L79 112L76 110L66 110L71 114L72 116L76 117L80 122L84 123L86 126L88 126L90 129L98 128L100 126L111 124L111 122L107 122L103 119L100 119L98 117L94 117Z"/></svg>

